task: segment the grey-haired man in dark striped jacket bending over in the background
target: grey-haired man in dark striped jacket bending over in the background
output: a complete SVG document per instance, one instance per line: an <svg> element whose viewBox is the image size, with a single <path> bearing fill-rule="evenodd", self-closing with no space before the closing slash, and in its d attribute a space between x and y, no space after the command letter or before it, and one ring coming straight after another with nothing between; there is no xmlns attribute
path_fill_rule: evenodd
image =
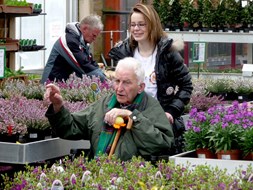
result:
<svg viewBox="0 0 253 190"><path fill-rule="evenodd" d="M78 77L86 74L105 80L104 73L99 69L90 53L89 46L103 30L98 15L85 17L80 23L69 23L65 34L54 44L44 68L41 83L50 81L66 81L74 73Z"/></svg>

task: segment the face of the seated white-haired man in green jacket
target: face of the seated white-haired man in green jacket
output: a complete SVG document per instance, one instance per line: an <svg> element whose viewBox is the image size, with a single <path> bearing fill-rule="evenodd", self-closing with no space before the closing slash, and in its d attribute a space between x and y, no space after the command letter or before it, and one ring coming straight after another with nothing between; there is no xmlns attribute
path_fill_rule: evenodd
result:
<svg viewBox="0 0 253 190"><path fill-rule="evenodd" d="M138 93L144 90L144 83L138 84L136 74L132 69L119 68L115 72L114 90L121 104L130 104Z"/></svg>

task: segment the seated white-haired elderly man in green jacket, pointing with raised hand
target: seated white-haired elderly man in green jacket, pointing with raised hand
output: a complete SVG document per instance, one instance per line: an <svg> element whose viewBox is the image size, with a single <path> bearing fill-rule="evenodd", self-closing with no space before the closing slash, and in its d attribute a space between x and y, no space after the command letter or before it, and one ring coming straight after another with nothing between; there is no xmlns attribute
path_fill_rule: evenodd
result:
<svg viewBox="0 0 253 190"><path fill-rule="evenodd" d="M46 86L51 101L46 117L64 139L88 139L93 156L109 153L118 116L131 118L130 130L122 128L115 155L121 160L150 156L169 150L174 142L172 127L159 102L144 92L144 70L134 58L124 58L115 70L115 92L102 97L83 111L70 113L63 105L60 89Z"/></svg>

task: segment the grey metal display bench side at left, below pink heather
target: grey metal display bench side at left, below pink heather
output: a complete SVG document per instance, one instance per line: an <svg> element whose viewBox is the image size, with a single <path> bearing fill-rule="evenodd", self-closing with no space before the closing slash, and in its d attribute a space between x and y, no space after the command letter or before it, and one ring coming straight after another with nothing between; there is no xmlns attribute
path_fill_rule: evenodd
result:
<svg viewBox="0 0 253 190"><path fill-rule="evenodd" d="M0 142L0 162L29 164L69 155L71 149L89 148L89 141L70 141L60 138L49 138L24 144Z"/></svg>

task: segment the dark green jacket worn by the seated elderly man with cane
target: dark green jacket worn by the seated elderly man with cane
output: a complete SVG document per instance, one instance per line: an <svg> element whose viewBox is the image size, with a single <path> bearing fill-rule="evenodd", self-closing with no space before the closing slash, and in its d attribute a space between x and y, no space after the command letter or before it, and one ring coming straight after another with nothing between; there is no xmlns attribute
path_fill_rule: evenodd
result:
<svg viewBox="0 0 253 190"><path fill-rule="evenodd" d="M108 102L112 94L102 97L88 108L70 113L65 107L54 113L52 105L46 112L57 136L69 140L90 140L92 154L96 152L100 132L104 125L104 115L108 111ZM132 156L150 156L164 150L170 150L174 143L172 127L159 102L145 94L143 111L133 110L130 116L133 125L130 130L122 128L115 149L115 155L121 160Z"/></svg>

